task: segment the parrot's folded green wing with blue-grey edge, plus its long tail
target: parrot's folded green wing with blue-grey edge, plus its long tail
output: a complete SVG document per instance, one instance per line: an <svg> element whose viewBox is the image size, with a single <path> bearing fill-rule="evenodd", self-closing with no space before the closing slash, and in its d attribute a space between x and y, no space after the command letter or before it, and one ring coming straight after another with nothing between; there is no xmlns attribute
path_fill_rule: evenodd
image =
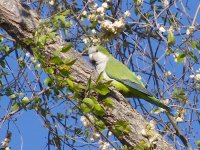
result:
<svg viewBox="0 0 200 150"><path fill-rule="evenodd" d="M109 57L110 59L105 69L106 74L109 78L115 79L121 84L132 88L133 90L130 90L129 94L126 93L127 95L145 99L149 103L164 108L169 112L171 111L168 106L160 102L144 87L143 83L137 78L134 72L131 72L124 64L116 60L114 57Z"/></svg>

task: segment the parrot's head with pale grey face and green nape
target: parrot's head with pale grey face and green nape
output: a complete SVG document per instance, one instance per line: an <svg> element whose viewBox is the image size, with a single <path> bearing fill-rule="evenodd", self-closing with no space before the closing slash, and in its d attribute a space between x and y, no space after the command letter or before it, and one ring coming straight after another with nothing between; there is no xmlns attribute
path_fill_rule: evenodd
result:
<svg viewBox="0 0 200 150"><path fill-rule="evenodd" d="M89 59L92 63L105 63L109 59L109 52L100 46L92 46L88 49Z"/></svg>

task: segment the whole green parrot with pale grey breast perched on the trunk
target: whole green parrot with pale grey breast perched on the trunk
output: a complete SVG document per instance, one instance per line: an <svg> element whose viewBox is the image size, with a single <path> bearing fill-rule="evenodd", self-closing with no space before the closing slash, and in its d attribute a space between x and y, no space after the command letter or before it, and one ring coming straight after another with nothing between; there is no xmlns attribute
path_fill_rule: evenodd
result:
<svg viewBox="0 0 200 150"><path fill-rule="evenodd" d="M125 97L142 98L149 103L161 107L167 111L170 108L153 96L144 86L141 80L124 64L115 59L104 47L92 46L88 49L89 59L95 63L96 70L103 79L110 81L116 90Z"/></svg>

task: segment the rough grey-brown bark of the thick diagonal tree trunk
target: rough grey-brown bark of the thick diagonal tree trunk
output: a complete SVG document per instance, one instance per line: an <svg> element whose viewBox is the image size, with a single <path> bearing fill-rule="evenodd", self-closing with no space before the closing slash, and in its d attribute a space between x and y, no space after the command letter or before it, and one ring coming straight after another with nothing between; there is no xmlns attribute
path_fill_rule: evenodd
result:
<svg viewBox="0 0 200 150"><path fill-rule="evenodd" d="M0 0L0 27L29 51L31 49L29 45L23 42L23 39L33 37L33 33L39 22L38 15L27 6L21 5L17 0ZM48 55L48 52L60 48L63 44L64 41L62 41L61 37L56 37L54 44L45 46L43 50L44 55ZM93 80L95 79L96 74L94 68L78 52L71 50L63 55L63 57L77 59L71 69L71 76L74 77L75 82L86 84L91 75ZM134 149L141 141L149 143L149 139L142 134L142 130L146 129L148 122L126 103L126 99L121 94L113 91L111 97L113 99L114 109L106 109L106 115L101 118L103 122L109 127L112 127L117 120L127 120L130 123L131 132L118 137L129 149ZM174 149L160 134L156 131L153 132L157 136L156 147L154 149Z"/></svg>

